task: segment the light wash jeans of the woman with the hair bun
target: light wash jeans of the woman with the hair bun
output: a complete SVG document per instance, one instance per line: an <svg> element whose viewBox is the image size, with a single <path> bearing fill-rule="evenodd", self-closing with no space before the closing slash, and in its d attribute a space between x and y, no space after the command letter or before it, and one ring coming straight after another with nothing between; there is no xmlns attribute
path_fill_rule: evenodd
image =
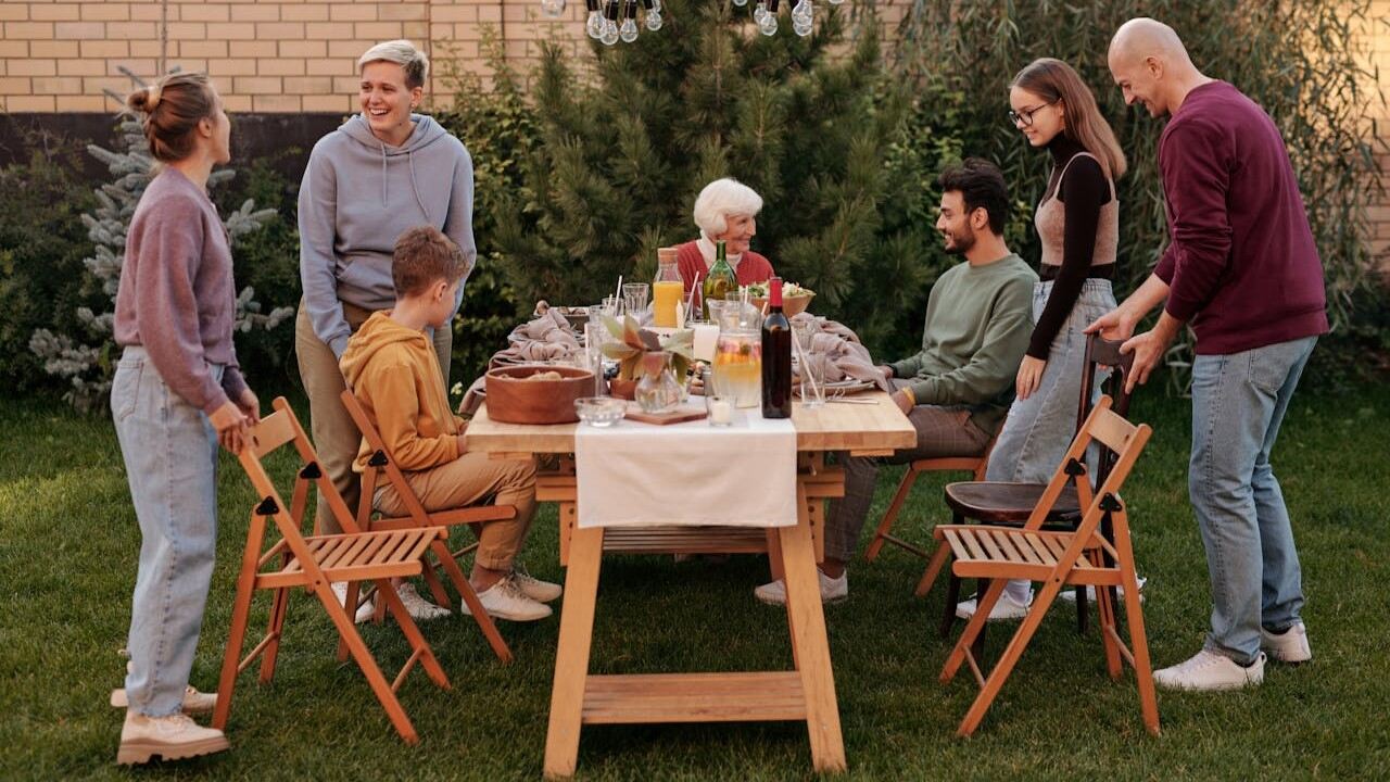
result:
<svg viewBox="0 0 1390 782"><path fill-rule="evenodd" d="M208 369L221 381L221 365ZM125 692L136 714L168 717L183 703L213 579L217 433L139 346L115 367L111 415L140 523Z"/></svg>

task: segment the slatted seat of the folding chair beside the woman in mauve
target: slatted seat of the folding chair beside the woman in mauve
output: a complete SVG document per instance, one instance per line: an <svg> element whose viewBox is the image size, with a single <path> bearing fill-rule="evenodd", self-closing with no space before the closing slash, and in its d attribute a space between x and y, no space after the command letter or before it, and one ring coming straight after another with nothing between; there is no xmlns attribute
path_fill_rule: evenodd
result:
<svg viewBox="0 0 1390 782"><path fill-rule="evenodd" d="M320 534L306 537L304 544L314 562L329 582L357 582L364 579L389 579L398 576L418 576L423 572L421 557L436 540L446 536L443 527L414 527L404 530L363 532L348 534ZM288 551L281 541L267 554ZM260 589L278 589L309 583L304 568L297 557L291 557L277 572L256 577Z"/></svg>

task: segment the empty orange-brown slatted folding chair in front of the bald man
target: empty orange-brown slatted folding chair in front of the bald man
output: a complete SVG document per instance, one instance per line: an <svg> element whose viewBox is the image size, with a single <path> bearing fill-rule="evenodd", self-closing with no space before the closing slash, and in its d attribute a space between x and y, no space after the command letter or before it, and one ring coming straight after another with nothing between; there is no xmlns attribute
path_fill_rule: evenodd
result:
<svg viewBox="0 0 1390 782"><path fill-rule="evenodd" d="M999 693L1004 680L1013 671L1024 647L1042 622L1042 616L1047 615L1048 607L1052 605L1063 586L1097 587L1095 603L1109 675L1112 679L1119 679L1122 657L1134 668L1144 725L1151 733L1158 733L1158 703L1154 697L1148 640L1144 635L1144 614L1134 576L1129 512L1119 494L1151 434L1152 430L1148 426L1134 426L1111 410L1111 398L1102 397L1091 415L1087 416L1081 431L1072 441L1072 447L1068 448L1066 456L1022 529L941 525L933 532L940 545L927 568L926 583L929 587L947 557L955 558L951 568L955 575L990 579L990 586L980 597L974 615L966 623L965 633L960 635L951 657L947 658L947 664L941 669L941 680L949 682L959 671L960 664L967 662L980 683L980 694L956 731L959 736L969 736L980 725L984 712ZM1042 530L1042 523L1061 497L1062 488L1068 480L1076 480L1070 474L1074 470L1069 472L1068 466L1084 459L1086 449L1093 441L1101 445L1102 455L1105 449L1115 454L1115 465L1109 476L1094 493L1086 480L1077 480L1076 488L1084 512L1076 532ZM1113 530L1112 537L1102 533L1102 519L1106 518ZM1042 582L1042 587L1033 598L1033 608L1024 616L999 661L990 675L984 676L970 647L983 630L994 604L1004 594L1006 579ZM1115 586L1123 587L1125 591L1123 601L1131 648L1126 648L1116 629L1115 605L1108 589Z"/></svg>

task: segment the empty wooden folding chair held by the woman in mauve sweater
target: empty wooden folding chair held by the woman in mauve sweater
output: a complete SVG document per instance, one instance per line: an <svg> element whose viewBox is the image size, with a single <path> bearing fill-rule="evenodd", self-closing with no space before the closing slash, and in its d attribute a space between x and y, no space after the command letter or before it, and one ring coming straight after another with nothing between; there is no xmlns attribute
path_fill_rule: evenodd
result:
<svg viewBox="0 0 1390 782"><path fill-rule="evenodd" d="M222 673L218 682L217 708L213 711L213 726L227 729L227 721L232 710L232 690L236 686L236 676L250 667L257 657L261 658L260 680L270 683L275 675L275 658L279 654L279 641L284 635L285 615L289 609L289 593L295 587L303 587L318 597L328 618L332 619L343 646L352 654L357 667L367 676L377 700L386 710L386 717L400 733L406 743L418 742L410 718L396 700L396 690L404 682L406 675L418 662L424 665L425 673L435 685L449 689L449 679L435 660L430 644L425 643L420 629L416 628L410 614L400 603L396 591L381 589L385 596L386 608L400 625L400 632L410 641L411 654L400 668L395 680L386 682L381 668L373 658L357 628L353 625L353 612L345 604L338 603L334 596L334 582L370 580L378 584L389 583L392 577L418 576L425 570L425 554L434 551L448 557L448 532L443 527L416 527L403 530L361 532L348 512L348 504L324 474L318 455L309 442L309 437L300 427L299 420L291 410L289 404L281 397L274 402L275 412L265 416L259 424L252 427L246 438L246 447L240 452L240 463L256 487L260 497L252 509L250 526L246 533L246 548L242 554L242 566L236 577L236 600L232 607L232 629L227 639L227 651L222 657ZM286 508L275 488L274 481L265 473L261 459L267 454L293 444L300 459L300 469L295 477L293 495ZM304 537L302 525L304 522L304 508L309 502L310 484L317 486L320 495L328 502L338 523L342 525L341 534L318 534ZM267 522L274 519L274 529L279 532L279 540L264 550L267 541ZM452 562L452 559L450 559ZM268 565L268 568L267 568ZM270 611L270 626L265 637L243 660L242 646L246 640L246 623L250 618L252 598L256 590L271 590L275 593ZM352 603L349 603L352 604Z"/></svg>

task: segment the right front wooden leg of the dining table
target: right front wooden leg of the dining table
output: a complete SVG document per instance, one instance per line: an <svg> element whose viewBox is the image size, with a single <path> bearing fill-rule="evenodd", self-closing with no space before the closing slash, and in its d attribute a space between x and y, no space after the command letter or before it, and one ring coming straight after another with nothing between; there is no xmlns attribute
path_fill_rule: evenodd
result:
<svg viewBox="0 0 1390 782"><path fill-rule="evenodd" d="M798 523L777 530L787 575L787 615L796 668L806 694L806 728L816 771L844 771L845 744L840 732L835 678L830 668L826 615L820 605L815 547L806 509L806 488L796 483Z"/></svg>

